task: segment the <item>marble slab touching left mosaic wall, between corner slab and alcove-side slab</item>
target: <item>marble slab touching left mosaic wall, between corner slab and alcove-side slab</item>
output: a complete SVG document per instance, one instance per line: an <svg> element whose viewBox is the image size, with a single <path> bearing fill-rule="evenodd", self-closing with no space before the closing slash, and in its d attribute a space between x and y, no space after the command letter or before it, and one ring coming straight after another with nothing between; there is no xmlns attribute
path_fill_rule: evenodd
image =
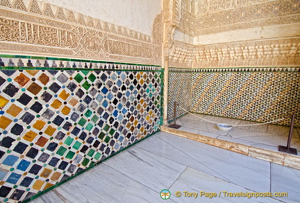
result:
<svg viewBox="0 0 300 203"><path fill-rule="evenodd" d="M134 146L111 157L105 164L156 192L169 188L186 168L183 164Z"/></svg>

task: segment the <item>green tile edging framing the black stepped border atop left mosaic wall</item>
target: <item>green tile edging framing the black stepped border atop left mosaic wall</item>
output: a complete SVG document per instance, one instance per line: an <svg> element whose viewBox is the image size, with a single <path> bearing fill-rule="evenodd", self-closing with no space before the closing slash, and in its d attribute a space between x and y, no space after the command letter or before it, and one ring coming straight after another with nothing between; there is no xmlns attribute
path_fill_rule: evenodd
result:
<svg viewBox="0 0 300 203"><path fill-rule="evenodd" d="M72 58L54 58L54 57L42 57L42 56L29 56L29 55L6 55L6 54L0 54L0 58L22 58L22 59L33 59L33 60L56 60L56 61L67 61L67 62L84 62L84 63L99 63L99 64L108 64L113 65L113 68L106 68L106 69L88 69L90 71L108 71L108 70L124 70L124 71L134 71L134 70L142 70L142 71L160 71L160 70L149 70L147 67L153 67L153 68L159 68L161 69L160 65L153 65L153 64L134 64L134 63L126 63L126 62L108 62L108 61L98 61L98 60L84 60L84 59L72 59ZM131 67L131 69L119 69L115 68L114 65L127 65L127 66L138 66L139 68ZM76 71L81 68L65 68L65 67L0 67L0 70L72 70ZM84 68L84 70L87 70Z"/></svg>

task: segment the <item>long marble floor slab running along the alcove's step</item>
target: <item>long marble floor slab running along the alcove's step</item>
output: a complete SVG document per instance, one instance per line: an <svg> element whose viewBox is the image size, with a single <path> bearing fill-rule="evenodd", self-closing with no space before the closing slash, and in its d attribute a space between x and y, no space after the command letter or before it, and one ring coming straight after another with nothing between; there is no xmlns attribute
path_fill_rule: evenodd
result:
<svg viewBox="0 0 300 203"><path fill-rule="evenodd" d="M244 186L253 191L266 191L269 188L270 166L268 161L173 136L165 132L159 132L157 136L213 170L217 174L215 177L226 179L228 182Z"/></svg>

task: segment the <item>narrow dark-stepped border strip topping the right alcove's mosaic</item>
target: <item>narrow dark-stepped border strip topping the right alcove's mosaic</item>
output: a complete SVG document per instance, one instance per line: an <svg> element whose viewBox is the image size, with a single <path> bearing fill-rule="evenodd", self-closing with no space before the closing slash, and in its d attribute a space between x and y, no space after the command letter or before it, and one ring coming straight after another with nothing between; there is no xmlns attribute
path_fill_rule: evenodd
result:
<svg viewBox="0 0 300 203"><path fill-rule="evenodd" d="M170 73L220 73L220 72L300 72L300 67L216 67L206 69L187 69L169 67Z"/></svg>

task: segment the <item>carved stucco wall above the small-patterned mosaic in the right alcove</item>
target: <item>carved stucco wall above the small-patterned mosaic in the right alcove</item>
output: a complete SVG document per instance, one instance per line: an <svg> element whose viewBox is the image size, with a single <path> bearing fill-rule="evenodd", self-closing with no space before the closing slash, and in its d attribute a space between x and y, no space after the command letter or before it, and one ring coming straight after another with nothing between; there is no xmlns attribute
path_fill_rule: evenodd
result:
<svg viewBox="0 0 300 203"><path fill-rule="evenodd" d="M182 1L170 67L299 66L299 22L297 0Z"/></svg>

